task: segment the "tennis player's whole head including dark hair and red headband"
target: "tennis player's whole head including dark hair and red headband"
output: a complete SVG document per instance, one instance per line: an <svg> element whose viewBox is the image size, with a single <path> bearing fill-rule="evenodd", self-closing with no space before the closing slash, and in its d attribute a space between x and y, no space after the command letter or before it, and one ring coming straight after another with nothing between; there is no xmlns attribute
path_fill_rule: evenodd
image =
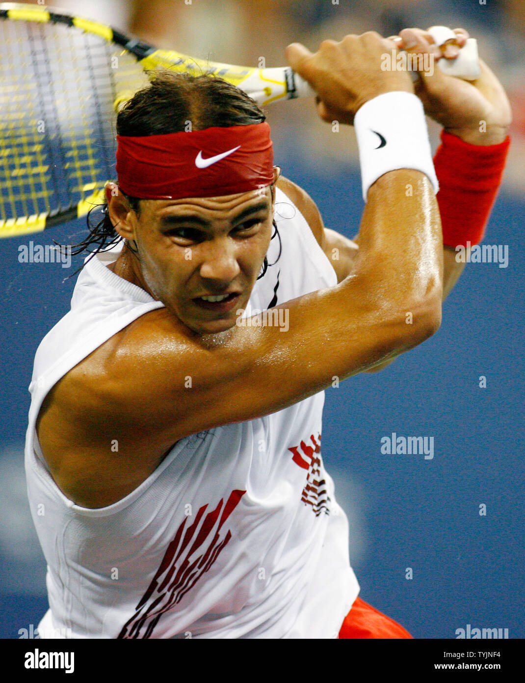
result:
<svg viewBox="0 0 525 683"><path fill-rule="evenodd" d="M106 219L125 240L121 262L133 281L198 333L233 326L236 311L246 307L267 265L278 169L271 163L269 138L264 144L256 137L255 143L250 141L262 135L257 124L264 121L257 104L222 79L170 72L156 76L117 118L122 187L108 184ZM261 128L266 130L267 124ZM233 152L224 160L229 167L208 167L206 161L218 151L237 148L230 143L237 138L228 134L240 135L241 150L249 152L250 144L258 150L262 144L265 151L245 152L240 162ZM201 150L202 139L220 140L220 149L213 150L212 144ZM197 146L190 144L186 156L179 152L195 140ZM181 160L180 165L170 167L172 158ZM201 165L203 177L211 178L207 184L192 175ZM224 295L228 298L223 302L208 300Z"/></svg>

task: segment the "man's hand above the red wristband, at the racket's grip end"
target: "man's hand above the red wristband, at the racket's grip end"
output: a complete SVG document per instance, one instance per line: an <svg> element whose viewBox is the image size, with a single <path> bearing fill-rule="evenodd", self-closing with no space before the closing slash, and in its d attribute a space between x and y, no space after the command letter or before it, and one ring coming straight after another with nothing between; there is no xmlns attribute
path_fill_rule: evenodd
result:
<svg viewBox="0 0 525 683"><path fill-rule="evenodd" d="M421 29L404 29L397 40L390 40L407 53L434 55L434 73L420 72L415 83L415 94L423 102L428 116L465 142L496 145L505 140L511 124L509 100L496 76L481 59L481 76L475 81L448 76L437 67L438 59L457 56L457 48L464 46L468 38L464 29L455 29L454 33L457 45L449 43L441 53L430 33Z"/></svg>

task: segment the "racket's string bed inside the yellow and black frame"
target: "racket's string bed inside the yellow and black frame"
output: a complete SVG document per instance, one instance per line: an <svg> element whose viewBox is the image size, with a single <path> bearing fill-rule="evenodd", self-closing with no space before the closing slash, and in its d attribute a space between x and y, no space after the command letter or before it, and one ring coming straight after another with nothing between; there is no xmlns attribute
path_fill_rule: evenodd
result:
<svg viewBox="0 0 525 683"><path fill-rule="evenodd" d="M89 209L115 178L117 92L147 79L130 55L115 61L119 48L70 27L0 21L0 41L0 227Z"/></svg>

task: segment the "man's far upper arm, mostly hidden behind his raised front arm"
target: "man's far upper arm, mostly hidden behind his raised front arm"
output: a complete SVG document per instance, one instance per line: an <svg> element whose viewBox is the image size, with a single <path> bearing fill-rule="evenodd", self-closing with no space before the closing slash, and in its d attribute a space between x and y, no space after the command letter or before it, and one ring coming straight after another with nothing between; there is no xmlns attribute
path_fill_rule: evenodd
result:
<svg viewBox="0 0 525 683"><path fill-rule="evenodd" d="M316 238L318 245L325 252L329 262L332 264L335 275L338 276L338 283L350 275L353 263L359 247L343 235L325 228L323 219L316 206L316 203L299 185L288 180L279 178L277 185L284 194L297 206L305 221L310 225L310 229Z"/></svg>

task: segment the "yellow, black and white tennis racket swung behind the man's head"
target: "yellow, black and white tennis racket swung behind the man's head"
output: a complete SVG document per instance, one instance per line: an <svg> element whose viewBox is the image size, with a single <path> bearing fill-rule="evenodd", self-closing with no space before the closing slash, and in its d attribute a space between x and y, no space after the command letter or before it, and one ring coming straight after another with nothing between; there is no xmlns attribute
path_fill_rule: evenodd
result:
<svg viewBox="0 0 525 683"><path fill-rule="evenodd" d="M462 51L470 75L453 75L470 78L477 53ZM40 232L104 203L116 179L116 112L155 68L220 76L263 107L313 94L289 67L194 59L43 5L0 3L0 237Z"/></svg>

